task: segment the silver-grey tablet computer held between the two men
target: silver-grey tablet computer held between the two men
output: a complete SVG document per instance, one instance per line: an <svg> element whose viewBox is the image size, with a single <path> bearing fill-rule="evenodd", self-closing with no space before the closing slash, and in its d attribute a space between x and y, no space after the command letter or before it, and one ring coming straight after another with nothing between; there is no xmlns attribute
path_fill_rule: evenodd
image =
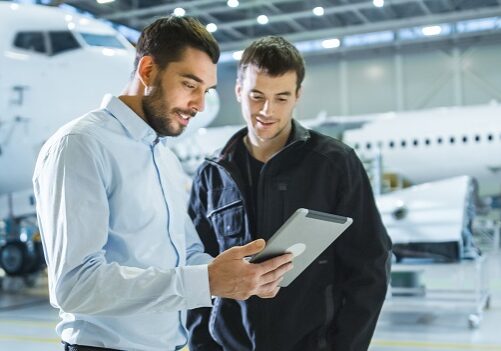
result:
<svg viewBox="0 0 501 351"><path fill-rule="evenodd" d="M348 228L349 217L299 208L268 240L266 247L249 262L259 263L286 252L294 255L294 268L279 286L286 287Z"/></svg>

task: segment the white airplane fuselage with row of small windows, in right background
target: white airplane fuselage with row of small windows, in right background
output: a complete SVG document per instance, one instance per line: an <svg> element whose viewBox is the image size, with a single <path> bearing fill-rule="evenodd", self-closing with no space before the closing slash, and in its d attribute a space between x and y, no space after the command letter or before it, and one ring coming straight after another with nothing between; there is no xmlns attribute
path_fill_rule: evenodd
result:
<svg viewBox="0 0 501 351"><path fill-rule="evenodd" d="M382 155L385 172L412 184L467 174L501 191L501 105L436 108L374 116L343 140L364 158Z"/></svg>

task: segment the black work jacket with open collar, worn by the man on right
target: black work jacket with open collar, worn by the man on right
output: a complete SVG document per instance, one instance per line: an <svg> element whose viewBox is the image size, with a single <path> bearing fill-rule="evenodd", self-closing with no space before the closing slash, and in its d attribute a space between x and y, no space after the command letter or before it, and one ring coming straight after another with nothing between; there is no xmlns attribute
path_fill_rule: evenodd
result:
<svg viewBox="0 0 501 351"><path fill-rule="evenodd" d="M188 311L190 351L367 350L386 294L391 241L361 162L342 142L293 120L288 144L261 170L251 225L247 178L234 162L246 133L206 159L194 179L189 213L208 253L268 240L300 207L353 224L275 298L216 298L212 308Z"/></svg>

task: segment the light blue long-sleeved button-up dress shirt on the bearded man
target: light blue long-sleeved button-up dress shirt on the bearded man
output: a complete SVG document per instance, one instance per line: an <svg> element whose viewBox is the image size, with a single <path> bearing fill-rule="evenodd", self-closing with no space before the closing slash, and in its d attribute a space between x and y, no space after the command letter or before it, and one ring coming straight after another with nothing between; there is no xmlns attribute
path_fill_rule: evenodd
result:
<svg viewBox="0 0 501 351"><path fill-rule="evenodd" d="M58 130L33 176L56 331L70 344L177 350L187 309L210 306L186 177L116 97Z"/></svg>

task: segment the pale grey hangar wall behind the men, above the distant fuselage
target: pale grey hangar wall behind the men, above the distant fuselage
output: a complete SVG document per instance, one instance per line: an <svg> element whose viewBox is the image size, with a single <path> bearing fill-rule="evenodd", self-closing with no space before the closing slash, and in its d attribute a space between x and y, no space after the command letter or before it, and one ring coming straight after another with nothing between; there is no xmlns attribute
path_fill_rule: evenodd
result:
<svg viewBox="0 0 501 351"><path fill-rule="evenodd" d="M298 119L501 102L499 41L306 57ZM241 124L236 64L219 66L221 111L212 126Z"/></svg>

